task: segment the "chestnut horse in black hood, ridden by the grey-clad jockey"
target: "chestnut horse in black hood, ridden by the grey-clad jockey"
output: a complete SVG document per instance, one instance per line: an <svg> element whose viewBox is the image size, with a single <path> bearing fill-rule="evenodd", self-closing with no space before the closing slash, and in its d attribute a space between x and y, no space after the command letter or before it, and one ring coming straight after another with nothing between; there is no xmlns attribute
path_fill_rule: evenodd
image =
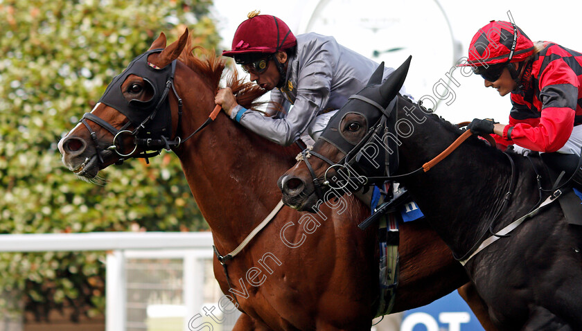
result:
<svg viewBox="0 0 582 331"><path fill-rule="evenodd" d="M225 64L212 53L197 57L193 48L188 30L167 47L162 33L114 78L59 150L84 179L125 159L149 157L143 153L150 150L173 150L215 251L226 256L280 201L276 179L300 151L249 132L222 112L209 121ZM229 84L238 102L252 107L263 91L241 81ZM191 135L202 123L210 124ZM234 330L370 330L379 296L378 242L375 230L357 227L368 213L352 196L321 206L320 218L283 206L238 256L224 258L224 265L214 259L222 292L243 312ZM411 222L400 232L393 312L430 303L468 281L427 224Z"/></svg>

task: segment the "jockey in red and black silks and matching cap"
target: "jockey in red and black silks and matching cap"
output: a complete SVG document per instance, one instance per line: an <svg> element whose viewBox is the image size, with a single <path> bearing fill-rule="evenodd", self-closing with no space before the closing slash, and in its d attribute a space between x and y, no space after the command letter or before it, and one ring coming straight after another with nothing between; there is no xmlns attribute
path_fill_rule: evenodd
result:
<svg viewBox="0 0 582 331"><path fill-rule="evenodd" d="M491 21L477 31L468 59L458 65L473 66L484 78L485 87L497 89L500 96L511 93L509 124L476 118L468 126L471 131L493 134L502 149L515 144L578 159L582 148L581 53L553 42L534 43L515 24Z"/></svg>

